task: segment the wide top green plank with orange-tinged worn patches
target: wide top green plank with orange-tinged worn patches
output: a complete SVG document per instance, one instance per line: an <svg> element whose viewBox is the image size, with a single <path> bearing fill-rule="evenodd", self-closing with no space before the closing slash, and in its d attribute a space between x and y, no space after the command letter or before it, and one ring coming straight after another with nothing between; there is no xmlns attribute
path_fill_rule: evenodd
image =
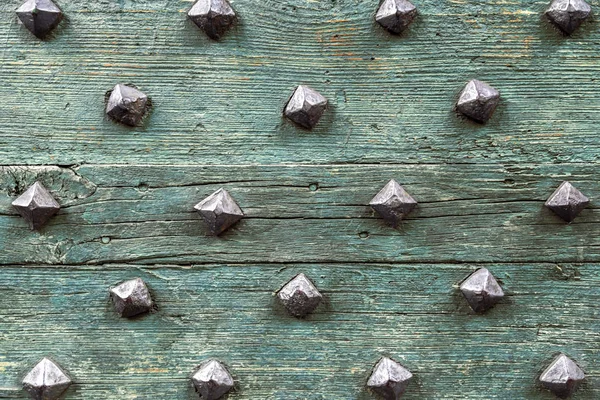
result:
<svg viewBox="0 0 600 400"><path fill-rule="evenodd" d="M597 162L597 21L564 38L545 1L422 0L403 37L377 1L237 0L240 25L208 41L191 1L61 2L48 42L3 2L3 164ZM594 5L594 2L592 2ZM478 77L502 93L485 126L453 112ZM154 100L144 128L108 121L104 94L132 82ZM331 110L312 133L284 121L294 86Z"/></svg>

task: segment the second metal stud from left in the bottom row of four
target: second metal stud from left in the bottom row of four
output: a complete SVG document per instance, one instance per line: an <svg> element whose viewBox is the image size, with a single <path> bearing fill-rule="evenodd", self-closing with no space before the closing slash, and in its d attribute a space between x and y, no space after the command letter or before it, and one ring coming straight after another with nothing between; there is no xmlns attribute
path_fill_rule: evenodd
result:
<svg viewBox="0 0 600 400"><path fill-rule="evenodd" d="M233 389L233 378L217 360L203 362L192 375L192 383L201 400L217 400Z"/></svg>

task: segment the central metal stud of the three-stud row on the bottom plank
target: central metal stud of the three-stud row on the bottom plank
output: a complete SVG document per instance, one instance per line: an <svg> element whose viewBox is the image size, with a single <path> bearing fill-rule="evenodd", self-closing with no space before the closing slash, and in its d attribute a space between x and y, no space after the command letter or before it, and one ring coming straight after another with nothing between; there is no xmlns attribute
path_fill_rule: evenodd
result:
<svg viewBox="0 0 600 400"><path fill-rule="evenodd" d="M299 318L312 313L323 300L319 290L304 274L296 275L279 289L277 298L288 313Z"/></svg>

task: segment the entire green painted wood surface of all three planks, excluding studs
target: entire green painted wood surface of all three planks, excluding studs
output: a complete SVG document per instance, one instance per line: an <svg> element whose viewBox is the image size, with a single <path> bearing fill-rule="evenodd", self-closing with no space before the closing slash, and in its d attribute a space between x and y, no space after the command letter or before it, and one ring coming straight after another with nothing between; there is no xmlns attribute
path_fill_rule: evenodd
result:
<svg viewBox="0 0 600 400"><path fill-rule="evenodd" d="M235 0L214 43L191 1L57 1L45 42L0 3L0 398L51 355L67 399L192 399L218 357L230 400L366 400L389 355L407 399L543 400L560 351L600 397L595 18L564 38L546 1L415 0L393 37L376 0ZM484 126L453 111L475 77L502 94ZM151 96L143 127L105 118L119 82ZM313 132L281 117L298 83L330 101ZM420 203L397 231L367 207L392 177ZM63 205L40 233L10 207L36 179ZM570 225L543 207L565 179L592 199ZM221 186L247 218L214 238L192 207ZM480 266L508 296L474 315ZM304 321L274 299L300 271L326 295ZM122 320L107 290L134 276L158 311Z"/></svg>

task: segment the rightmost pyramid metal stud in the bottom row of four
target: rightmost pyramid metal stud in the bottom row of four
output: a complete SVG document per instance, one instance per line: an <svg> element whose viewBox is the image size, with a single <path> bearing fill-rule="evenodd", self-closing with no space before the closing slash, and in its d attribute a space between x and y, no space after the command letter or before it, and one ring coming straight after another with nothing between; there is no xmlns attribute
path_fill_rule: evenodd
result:
<svg viewBox="0 0 600 400"><path fill-rule="evenodd" d="M540 382L560 398L570 397L585 374L573 360L564 354L559 355L540 375Z"/></svg>

